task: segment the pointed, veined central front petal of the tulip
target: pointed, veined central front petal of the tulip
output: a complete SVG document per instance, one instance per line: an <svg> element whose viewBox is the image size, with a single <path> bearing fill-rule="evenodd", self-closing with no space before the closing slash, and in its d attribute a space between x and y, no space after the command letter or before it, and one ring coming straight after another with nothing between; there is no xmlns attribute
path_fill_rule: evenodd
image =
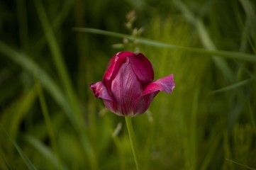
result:
<svg viewBox="0 0 256 170"><path fill-rule="evenodd" d="M116 113L119 113L118 115L133 115L133 106L141 92L140 81L134 74L131 64L129 62L122 64L111 84L111 93L117 106Z"/></svg>

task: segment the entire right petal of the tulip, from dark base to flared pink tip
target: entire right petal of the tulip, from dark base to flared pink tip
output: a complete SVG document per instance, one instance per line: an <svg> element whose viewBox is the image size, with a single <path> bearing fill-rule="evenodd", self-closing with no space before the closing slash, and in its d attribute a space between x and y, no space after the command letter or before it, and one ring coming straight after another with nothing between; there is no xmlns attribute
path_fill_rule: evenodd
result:
<svg viewBox="0 0 256 170"><path fill-rule="evenodd" d="M134 115L138 115L147 111L151 101L160 91L165 91L169 94L172 93L174 86L173 74L162 79L157 79L156 81L149 84L135 102Z"/></svg>

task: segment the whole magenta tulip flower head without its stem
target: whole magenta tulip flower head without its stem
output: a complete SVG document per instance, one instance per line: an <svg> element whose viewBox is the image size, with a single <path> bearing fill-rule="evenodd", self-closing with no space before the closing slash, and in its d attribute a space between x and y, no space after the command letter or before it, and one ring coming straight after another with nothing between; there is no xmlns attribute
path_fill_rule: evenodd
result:
<svg viewBox="0 0 256 170"><path fill-rule="evenodd" d="M173 74L154 79L150 61L142 53L118 52L108 62L103 80L90 85L96 98L101 98L116 115L135 116L147 111L160 92L174 89Z"/></svg>

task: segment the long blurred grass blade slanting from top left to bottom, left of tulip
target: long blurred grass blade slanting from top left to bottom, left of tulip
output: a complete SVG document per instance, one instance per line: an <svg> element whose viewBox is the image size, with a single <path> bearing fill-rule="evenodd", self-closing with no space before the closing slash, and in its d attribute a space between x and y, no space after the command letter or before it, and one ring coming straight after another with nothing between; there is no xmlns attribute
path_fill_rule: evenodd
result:
<svg viewBox="0 0 256 170"><path fill-rule="evenodd" d="M46 14L42 1L34 0L34 4L35 4L36 11L38 12L38 18L43 27L46 40L48 41L50 52L52 53L53 62L55 63L55 67L60 76L60 80L62 81L62 85L65 89L65 93L67 94L67 100L69 101L70 106L72 108L72 112L74 114L73 116L75 121L74 128L76 128L78 132L82 146L84 148L84 152L89 157L91 169L98 169L94 148L91 147L91 143L89 142L87 133L84 132L84 130L87 129L85 125L86 121L84 121L82 112L80 110L79 100L77 98L76 93L74 92L74 87L72 86L72 82L69 77L69 73L67 72L65 62L62 58L62 52L57 43L57 39L55 38L55 34L52 30L52 26L50 25L50 21L48 20L48 16Z"/></svg>

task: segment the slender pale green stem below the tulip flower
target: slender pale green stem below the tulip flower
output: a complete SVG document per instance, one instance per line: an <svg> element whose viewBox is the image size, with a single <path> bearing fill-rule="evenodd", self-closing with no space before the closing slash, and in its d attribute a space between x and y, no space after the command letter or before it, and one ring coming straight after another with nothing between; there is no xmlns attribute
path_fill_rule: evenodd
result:
<svg viewBox="0 0 256 170"><path fill-rule="evenodd" d="M133 158L135 161L136 169L139 170L138 158L137 158L136 149L135 149L135 137L134 137L134 132L133 132L133 123L132 123L131 117L129 117L129 116L126 116L126 126L127 126L127 130L128 130L128 135L130 137L130 147L132 148L132 151L133 151Z"/></svg>

